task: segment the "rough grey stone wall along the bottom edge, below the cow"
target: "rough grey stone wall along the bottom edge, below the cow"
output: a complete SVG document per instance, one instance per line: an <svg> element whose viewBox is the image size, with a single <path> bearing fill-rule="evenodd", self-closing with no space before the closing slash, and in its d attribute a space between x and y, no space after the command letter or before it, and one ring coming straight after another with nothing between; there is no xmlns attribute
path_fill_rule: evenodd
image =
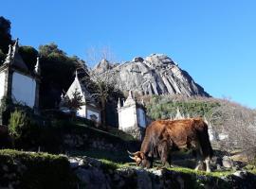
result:
<svg viewBox="0 0 256 189"><path fill-rule="evenodd" d="M228 176L198 174L185 169L118 167L89 157L69 158L70 165L86 188L254 188L256 176L246 170Z"/></svg>

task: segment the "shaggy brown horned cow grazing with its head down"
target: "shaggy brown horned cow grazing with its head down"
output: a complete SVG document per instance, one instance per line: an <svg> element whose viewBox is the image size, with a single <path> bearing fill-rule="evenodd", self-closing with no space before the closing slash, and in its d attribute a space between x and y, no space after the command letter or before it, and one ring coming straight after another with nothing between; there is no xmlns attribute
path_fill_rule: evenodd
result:
<svg viewBox="0 0 256 189"><path fill-rule="evenodd" d="M192 149L200 157L196 170L201 163L206 163L206 170L210 172L212 148L208 126L201 118L153 122L146 129L140 151L130 154L137 165L149 168L156 157L160 157L163 164L171 165L171 151L184 148Z"/></svg>

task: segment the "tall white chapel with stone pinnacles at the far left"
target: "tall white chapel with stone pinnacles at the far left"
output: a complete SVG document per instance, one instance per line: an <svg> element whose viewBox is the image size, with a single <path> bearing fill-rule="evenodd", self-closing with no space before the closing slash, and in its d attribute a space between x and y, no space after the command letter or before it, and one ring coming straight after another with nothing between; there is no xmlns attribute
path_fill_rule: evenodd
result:
<svg viewBox="0 0 256 189"><path fill-rule="evenodd" d="M13 103L27 105L39 110L40 65L37 58L33 72L19 54L19 41L9 44L9 53L3 65L0 66L0 99L9 97Z"/></svg>

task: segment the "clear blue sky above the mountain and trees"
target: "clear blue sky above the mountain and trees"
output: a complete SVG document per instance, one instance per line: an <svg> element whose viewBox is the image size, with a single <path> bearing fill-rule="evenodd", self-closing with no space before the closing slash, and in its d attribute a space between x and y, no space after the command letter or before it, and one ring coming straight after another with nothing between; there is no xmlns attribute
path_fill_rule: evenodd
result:
<svg viewBox="0 0 256 189"><path fill-rule="evenodd" d="M24 45L57 43L86 60L108 46L116 60L164 53L214 97L256 108L256 1L2 1Z"/></svg>

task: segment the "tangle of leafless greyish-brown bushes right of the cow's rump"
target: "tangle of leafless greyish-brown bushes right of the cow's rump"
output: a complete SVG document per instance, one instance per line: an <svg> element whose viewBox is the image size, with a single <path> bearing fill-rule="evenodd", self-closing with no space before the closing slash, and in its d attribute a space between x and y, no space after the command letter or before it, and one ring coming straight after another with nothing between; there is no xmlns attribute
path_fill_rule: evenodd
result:
<svg viewBox="0 0 256 189"><path fill-rule="evenodd" d="M228 136L220 141L220 145L228 151L255 147L255 113L229 100L222 100L221 103L222 105L215 108L209 118L213 129Z"/></svg>

